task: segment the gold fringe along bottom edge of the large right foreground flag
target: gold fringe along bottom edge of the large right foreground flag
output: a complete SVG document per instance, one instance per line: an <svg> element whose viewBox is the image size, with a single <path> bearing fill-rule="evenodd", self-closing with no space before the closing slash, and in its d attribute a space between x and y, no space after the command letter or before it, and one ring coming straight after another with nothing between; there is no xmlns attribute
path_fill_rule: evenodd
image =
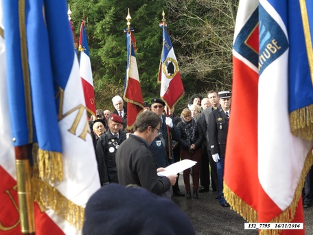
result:
<svg viewBox="0 0 313 235"><path fill-rule="evenodd" d="M305 176L308 174L311 166L313 165L313 149L311 148L303 166L301 178L299 180L296 191L294 192L294 199L290 206L284 210L279 216L275 217L268 223L289 223L294 219L294 214L302 195L302 189L304 186ZM251 208L246 202L238 197L231 189L224 183L224 197L227 202L231 205L231 209L240 214L242 218L251 223L257 223L257 212ZM282 230L259 230L260 235L278 235Z"/></svg>

